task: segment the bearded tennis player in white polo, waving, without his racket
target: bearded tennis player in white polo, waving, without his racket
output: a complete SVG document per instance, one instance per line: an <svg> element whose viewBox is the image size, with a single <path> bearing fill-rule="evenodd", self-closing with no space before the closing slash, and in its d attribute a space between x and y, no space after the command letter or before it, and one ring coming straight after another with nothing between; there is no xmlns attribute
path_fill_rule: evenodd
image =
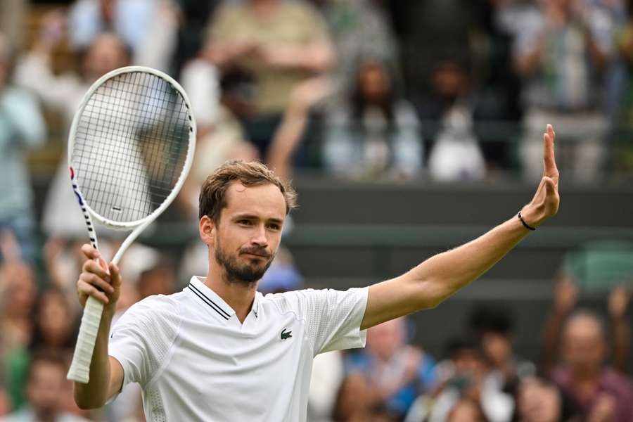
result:
<svg viewBox="0 0 633 422"><path fill-rule="evenodd" d="M132 306L110 335L120 271L84 245L80 302L105 304L90 382L75 383L83 409L101 407L134 381L148 421L305 421L312 359L362 347L365 330L437 306L558 211L554 129L544 134L544 176L520 215L406 274L369 288L257 293L281 240L292 188L259 163L229 162L200 191L207 277L181 293ZM98 262L96 262L98 260ZM101 289L101 290L99 290Z"/></svg>

